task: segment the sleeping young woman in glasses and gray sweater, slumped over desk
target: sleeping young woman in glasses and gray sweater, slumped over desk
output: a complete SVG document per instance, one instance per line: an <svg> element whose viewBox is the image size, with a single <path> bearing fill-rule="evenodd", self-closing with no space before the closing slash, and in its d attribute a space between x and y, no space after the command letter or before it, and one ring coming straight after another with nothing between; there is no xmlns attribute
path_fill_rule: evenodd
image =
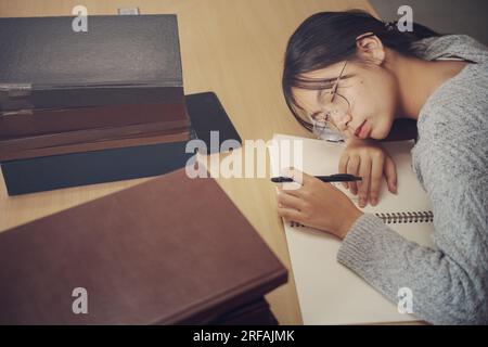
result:
<svg viewBox="0 0 488 347"><path fill-rule="evenodd" d="M338 169L363 178L349 185L360 206L377 203L383 177L396 192L395 164L378 141L397 118L416 121L412 163L432 201L437 249L305 174L299 190L280 192L279 214L342 239L337 260L394 303L409 287L419 318L487 324L487 49L419 25L401 33L360 11L319 13L290 39L283 92L304 127L345 138Z"/></svg>

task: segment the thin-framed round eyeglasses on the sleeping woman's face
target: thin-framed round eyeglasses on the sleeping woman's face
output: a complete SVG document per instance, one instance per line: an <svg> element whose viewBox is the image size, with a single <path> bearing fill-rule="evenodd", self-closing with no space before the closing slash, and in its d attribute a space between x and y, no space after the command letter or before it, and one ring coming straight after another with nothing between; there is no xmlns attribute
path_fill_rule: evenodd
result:
<svg viewBox="0 0 488 347"><path fill-rule="evenodd" d="M331 91L321 92L319 97L321 111L310 116L313 126L312 132L319 139L331 142L344 141L341 130L334 125L334 121L338 123L350 110L349 101L337 92L338 82L343 77L346 66L347 62L344 64Z"/></svg>

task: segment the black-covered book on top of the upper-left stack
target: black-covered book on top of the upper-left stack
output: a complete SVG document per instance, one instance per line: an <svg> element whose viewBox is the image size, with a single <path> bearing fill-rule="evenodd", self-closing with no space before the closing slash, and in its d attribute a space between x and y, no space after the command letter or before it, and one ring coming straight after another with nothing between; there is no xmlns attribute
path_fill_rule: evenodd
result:
<svg viewBox="0 0 488 347"><path fill-rule="evenodd" d="M1 110L183 102L176 15L90 15L87 33L73 20L0 18Z"/></svg>

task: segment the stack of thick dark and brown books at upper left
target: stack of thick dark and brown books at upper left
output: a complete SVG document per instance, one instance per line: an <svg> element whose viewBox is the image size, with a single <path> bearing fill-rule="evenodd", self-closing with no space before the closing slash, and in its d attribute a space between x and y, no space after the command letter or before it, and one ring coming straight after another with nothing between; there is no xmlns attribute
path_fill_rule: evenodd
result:
<svg viewBox="0 0 488 347"><path fill-rule="evenodd" d="M0 18L0 162L10 195L184 166L175 15Z"/></svg>

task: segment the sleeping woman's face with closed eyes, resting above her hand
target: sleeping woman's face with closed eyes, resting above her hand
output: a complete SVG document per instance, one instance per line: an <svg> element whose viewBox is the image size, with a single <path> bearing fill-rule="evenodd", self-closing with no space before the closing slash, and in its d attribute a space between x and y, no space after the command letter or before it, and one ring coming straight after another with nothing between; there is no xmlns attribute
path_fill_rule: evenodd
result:
<svg viewBox="0 0 488 347"><path fill-rule="evenodd" d="M306 79L336 79L345 62L326 68L304 74ZM306 114L310 116L323 111L320 93L330 90L307 90L294 88L295 100ZM350 104L345 115L329 117L346 138L385 139L395 119L398 100L398 83L391 73L381 65L348 62L341 80L337 93Z"/></svg>

